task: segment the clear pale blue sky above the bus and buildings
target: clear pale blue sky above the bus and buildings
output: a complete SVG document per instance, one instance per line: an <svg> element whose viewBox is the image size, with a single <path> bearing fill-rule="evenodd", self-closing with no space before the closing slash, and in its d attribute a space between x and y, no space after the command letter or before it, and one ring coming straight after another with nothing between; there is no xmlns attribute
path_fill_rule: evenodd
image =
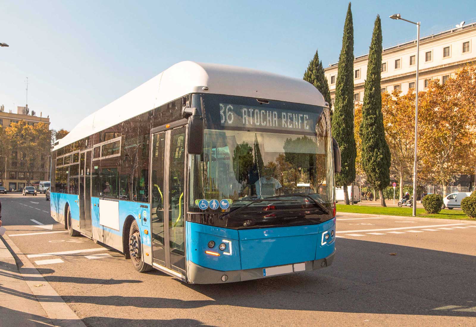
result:
<svg viewBox="0 0 476 327"><path fill-rule="evenodd" d="M243 66L302 78L319 50L337 62L347 1L0 0L0 104L28 104L70 130L86 115L182 60ZM374 19L384 47L476 17L474 0L353 1L356 55ZM15 107L13 107L15 104ZM131 108L133 110L134 108Z"/></svg>

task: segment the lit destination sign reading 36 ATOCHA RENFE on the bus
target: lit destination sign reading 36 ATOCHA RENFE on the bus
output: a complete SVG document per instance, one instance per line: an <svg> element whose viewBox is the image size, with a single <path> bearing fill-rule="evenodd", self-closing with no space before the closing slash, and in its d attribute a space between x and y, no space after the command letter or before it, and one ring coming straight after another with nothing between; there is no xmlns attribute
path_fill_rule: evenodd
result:
<svg viewBox="0 0 476 327"><path fill-rule="evenodd" d="M222 126L315 132L318 113L220 103Z"/></svg>

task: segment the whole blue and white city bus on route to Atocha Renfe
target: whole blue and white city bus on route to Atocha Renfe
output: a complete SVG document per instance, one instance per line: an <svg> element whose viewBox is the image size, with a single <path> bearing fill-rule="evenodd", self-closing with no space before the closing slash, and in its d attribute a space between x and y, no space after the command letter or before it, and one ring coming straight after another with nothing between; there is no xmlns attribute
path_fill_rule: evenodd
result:
<svg viewBox="0 0 476 327"><path fill-rule="evenodd" d="M180 62L55 143L51 216L140 272L223 283L327 267L340 152L297 78Z"/></svg>

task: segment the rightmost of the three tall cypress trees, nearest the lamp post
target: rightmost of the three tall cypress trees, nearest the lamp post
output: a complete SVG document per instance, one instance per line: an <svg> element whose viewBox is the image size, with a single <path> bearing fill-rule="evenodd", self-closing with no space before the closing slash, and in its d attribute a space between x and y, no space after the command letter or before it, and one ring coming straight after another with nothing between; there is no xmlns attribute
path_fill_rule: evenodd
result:
<svg viewBox="0 0 476 327"><path fill-rule="evenodd" d="M368 53L367 79L362 106L362 168L370 183L380 195L380 203L386 207L383 189L390 183L390 149L385 140L380 93L380 67L382 65L382 27L380 17L375 19L372 42Z"/></svg>

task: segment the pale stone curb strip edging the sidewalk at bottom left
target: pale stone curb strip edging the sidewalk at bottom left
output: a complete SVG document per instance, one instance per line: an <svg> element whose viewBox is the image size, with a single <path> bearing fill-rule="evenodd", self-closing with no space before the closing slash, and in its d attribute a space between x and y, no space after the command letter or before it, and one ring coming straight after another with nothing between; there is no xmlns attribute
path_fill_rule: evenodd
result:
<svg viewBox="0 0 476 327"><path fill-rule="evenodd" d="M23 266L18 268L18 271L30 288L31 293L37 299L49 298L49 300L39 300L38 302L45 311L46 315L53 321L53 324L55 326L61 327L86 327L82 320L79 319L74 311L63 301L63 298L61 298L51 287L50 283L48 283L48 281L43 278L43 276L30 262L30 260L28 260L27 257L23 255L20 249L15 245L15 243L10 240L7 234L3 235L3 240L10 246L11 250L13 250L18 259L23 263ZM8 249L5 250L8 251ZM5 251L0 244L0 255L6 255L4 252ZM10 251L8 252L10 254L11 260L15 262L15 258L13 257L12 253L10 253ZM35 287L35 285L38 285L38 283L43 284L43 286Z"/></svg>

